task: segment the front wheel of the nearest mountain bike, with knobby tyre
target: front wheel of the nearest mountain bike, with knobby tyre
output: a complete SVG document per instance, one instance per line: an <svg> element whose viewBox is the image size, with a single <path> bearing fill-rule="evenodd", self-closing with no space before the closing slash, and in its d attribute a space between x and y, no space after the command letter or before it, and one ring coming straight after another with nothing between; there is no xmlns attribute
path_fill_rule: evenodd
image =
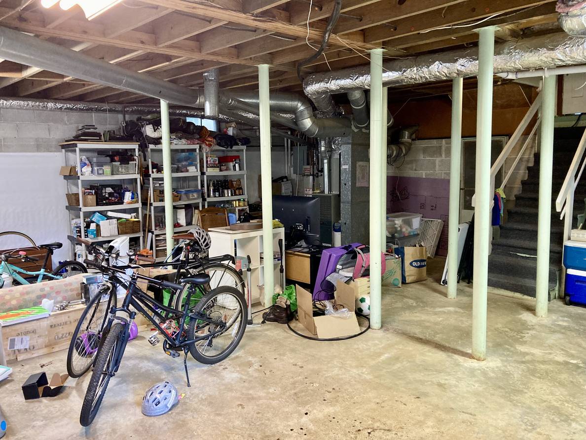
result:
<svg viewBox="0 0 586 440"><path fill-rule="evenodd" d="M91 374L90 384L87 386L86 397L81 405L79 422L83 427L90 426L96 418L110 378L120 365L119 360L122 357L120 350L124 349L122 346L124 331L124 324L114 323L108 331L104 344L98 350L94 371Z"/></svg>

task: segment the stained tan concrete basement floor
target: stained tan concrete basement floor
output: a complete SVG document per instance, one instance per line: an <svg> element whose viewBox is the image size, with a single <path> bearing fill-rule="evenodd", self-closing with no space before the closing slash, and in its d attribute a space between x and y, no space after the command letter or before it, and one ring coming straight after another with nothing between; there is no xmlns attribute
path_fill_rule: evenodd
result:
<svg viewBox="0 0 586 440"><path fill-rule="evenodd" d="M266 324L221 364L190 358L191 388L182 359L142 333L87 429L79 411L89 375L59 397L25 402L28 375L63 373L66 353L21 361L0 383L7 438L586 438L586 309L556 300L537 319L532 300L490 294L484 362L469 357L471 310L471 286L457 300L434 279L386 289L382 330L334 343ZM144 417L142 395L163 380L185 397Z"/></svg>

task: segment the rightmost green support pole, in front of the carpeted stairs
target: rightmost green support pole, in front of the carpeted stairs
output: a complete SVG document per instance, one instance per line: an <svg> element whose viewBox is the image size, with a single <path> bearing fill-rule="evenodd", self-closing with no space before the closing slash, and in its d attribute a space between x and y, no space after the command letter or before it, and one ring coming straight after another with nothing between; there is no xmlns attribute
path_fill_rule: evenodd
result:
<svg viewBox="0 0 586 440"><path fill-rule="evenodd" d="M539 211L537 211L537 279L535 314L547 316L551 228L551 176L553 172L554 117L557 77L543 78L541 103L541 148L539 152ZM566 214L567 215L567 214Z"/></svg>

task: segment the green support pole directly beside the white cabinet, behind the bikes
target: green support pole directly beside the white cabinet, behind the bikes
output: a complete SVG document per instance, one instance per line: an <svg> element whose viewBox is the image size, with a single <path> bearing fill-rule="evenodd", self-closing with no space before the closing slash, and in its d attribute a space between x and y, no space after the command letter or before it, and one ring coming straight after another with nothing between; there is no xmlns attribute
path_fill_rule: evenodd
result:
<svg viewBox="0 0 586 440"><path fill-rule="evenodd" d="M268 64L258 65L258 120L260 122L261 198L263 199L263 275L264 306L272 304L274 265L272 263L272 170L271 109L269 103Z"/></svg>

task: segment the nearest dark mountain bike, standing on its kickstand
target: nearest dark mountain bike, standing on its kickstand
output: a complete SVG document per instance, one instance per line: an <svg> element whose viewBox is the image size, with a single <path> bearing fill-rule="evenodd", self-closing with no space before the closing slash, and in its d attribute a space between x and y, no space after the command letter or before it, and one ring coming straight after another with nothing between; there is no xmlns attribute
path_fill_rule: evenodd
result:
<svg viewBox="0 0 586 440"><path fill-rule="evenodd" d="M103 262L85 260L87 266L96 268L118 279L127 275L125 270ZM139 267L139 266L138 266ZM80 424L87 427L93 422L104 398L110 379L117 373L130 337L130 327L137 312L142 313L162 334L163 351L171 357L184 353L183 365L188 387L189 373L187 355L204 364L216 364L236 349L246 330L246 299L240 290L219 286L209 292L202 292L201 286L209 284L205 273L180 280L176 284L147 276L130 275L126 281L128 290L121 307L111 305L104 316L104 330L97 346L94 370L81 407ZM144 293L138 286L139 280L153 283L164 289L171 289L182 298L180 308L168 307ZM195 298L198 293L201 295ZM110 296L112 297L112 295ZM177 304L177 303L176 303ZM127 317L118 316L120 313Z"/></svg>

